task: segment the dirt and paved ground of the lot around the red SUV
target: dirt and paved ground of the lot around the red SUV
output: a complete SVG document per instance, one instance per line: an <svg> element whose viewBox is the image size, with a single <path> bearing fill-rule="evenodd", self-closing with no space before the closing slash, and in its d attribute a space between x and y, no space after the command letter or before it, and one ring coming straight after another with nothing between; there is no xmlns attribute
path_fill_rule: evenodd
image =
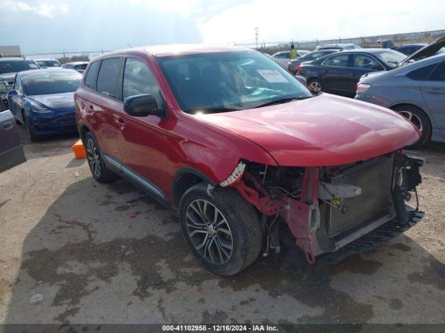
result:
<svg viewBox="0 0 445 333"><path fill-rule="evenodd" d="M28 162L0 173L0 323L444 323L444 145L414 152L425 219L311 284L285 253L208 273L175 216L95 182L75 140L26 140Z"/></svg>

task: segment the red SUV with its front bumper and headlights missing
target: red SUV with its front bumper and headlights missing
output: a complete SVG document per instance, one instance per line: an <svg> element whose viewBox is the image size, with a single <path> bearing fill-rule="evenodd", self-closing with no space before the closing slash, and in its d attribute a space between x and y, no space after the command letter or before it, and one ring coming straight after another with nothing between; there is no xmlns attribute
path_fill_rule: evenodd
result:
<svg viewBox="0 0 445 333"><path fill-rule="evenodd" d="M250 49L154 46L95 58L75 93L92 176L179 214L209 271L233 275L291 239L338 262L410 228L419 133L385 108L313 92Z"/></svg>

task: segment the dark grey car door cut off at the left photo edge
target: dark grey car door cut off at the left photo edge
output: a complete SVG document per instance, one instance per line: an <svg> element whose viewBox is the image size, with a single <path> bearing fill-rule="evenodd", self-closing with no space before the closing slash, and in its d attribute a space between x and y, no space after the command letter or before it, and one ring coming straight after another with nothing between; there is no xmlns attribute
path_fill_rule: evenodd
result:
<svg viewBox="0 0 445 333"><path fill-rule="evenodd" d="M0 111L0 172L26 162L22 140L13 114Z"/></svg>

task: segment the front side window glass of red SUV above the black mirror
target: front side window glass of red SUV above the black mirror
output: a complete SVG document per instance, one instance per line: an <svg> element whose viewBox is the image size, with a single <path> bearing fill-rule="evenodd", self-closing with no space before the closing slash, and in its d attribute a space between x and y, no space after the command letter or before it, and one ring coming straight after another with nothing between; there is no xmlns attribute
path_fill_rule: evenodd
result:
<svg viewBox="0 0 445 333"><path fill-rule="evenodd" d="M162 105L159 87L147 65L140 60L127 58L122 84L122 99L139 94L150 94L154 96L158 105Z"/></svg>

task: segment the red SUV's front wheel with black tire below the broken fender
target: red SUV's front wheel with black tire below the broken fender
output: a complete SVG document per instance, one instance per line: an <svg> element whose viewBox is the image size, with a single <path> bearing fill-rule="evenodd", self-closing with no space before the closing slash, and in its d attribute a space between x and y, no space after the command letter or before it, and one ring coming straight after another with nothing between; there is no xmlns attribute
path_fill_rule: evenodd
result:
<svg viewBox="0 0 445 333"><path fill-rule="evenodd" d="M257 259L263 234L259 217L236 189L188 189L179 203L182 234L208 271L229 276Z"/></svg>

